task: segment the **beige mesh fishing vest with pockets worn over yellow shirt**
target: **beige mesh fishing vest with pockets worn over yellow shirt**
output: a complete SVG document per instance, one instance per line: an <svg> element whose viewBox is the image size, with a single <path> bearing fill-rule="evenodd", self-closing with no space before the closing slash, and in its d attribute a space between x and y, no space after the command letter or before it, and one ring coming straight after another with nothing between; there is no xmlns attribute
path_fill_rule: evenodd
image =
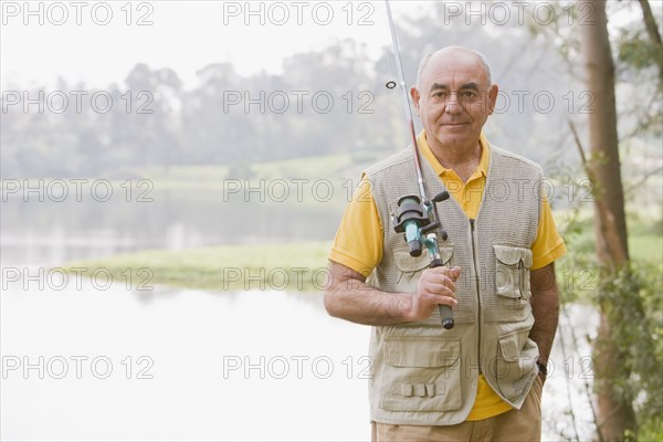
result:
<svg viewBox="0 0 663 442"><path fill-rule="evenodd" d="M422 160L429 198L444 190ZM367 170L385 230L382 261L368 283L386 292L414 293L430 259L412 257L391 213L404 194L419 194L412 151L406 149ZM519 409L536 376L538 348L529 339L530 244L540 208L540 168L491 147L483 200L470 220L453 198L439 203L445 242L442 261L462 270L456 282L455 326L441 326L438 311L421 322L372 327L369 385L371 420L392 424L463 422L476 397L478 373Z"/></svg>

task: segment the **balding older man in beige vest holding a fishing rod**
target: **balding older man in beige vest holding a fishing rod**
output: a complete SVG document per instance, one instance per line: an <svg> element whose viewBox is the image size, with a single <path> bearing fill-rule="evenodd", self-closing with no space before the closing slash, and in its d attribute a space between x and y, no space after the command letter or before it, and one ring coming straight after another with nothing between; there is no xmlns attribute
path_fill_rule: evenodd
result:
<svg viewBox="0 0 663 442"><path fill-rule="evenodd" d="M566 246L540 167L482 133L497 92L485 57L460 46L425 56L410 91L425 186L453 197L439 204L444 266L393 230L396 201L418 193L411 149L365 171L329 252L327 312L373 326L373 441L540 440Z"/></svg>

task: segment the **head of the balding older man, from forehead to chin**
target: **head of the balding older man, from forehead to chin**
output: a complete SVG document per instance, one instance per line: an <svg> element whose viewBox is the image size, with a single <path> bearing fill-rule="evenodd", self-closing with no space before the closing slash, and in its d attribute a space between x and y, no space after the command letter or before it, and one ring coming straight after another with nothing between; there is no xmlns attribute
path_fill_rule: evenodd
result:
<svg viewBox="0 0 663 442"><path fill-rule="evenodd" d="M418 88L419 87L419 88ZM434 54L411 94L433 150L472 149L493 113L497 86L472 53Z"/></svg>

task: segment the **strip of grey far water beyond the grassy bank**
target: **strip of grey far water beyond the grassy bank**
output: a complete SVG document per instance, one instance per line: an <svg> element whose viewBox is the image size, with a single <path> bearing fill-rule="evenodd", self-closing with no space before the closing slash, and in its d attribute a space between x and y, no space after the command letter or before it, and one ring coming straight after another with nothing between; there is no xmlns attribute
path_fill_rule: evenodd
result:
<svg viewBox="0 0 663 442"><path fill-rule="evenodd" d="M2 252L14 265L60 265L138 249L329 240L343 211L343 201L223 202L217 193L155 192L143 203L10 199L0 212Z"/></svg>

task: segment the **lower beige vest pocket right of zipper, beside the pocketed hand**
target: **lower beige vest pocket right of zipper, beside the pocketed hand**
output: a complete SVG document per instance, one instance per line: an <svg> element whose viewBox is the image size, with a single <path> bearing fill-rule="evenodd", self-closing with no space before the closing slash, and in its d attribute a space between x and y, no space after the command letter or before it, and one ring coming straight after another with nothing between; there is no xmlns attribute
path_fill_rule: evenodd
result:
<svg viewBox="0 0 663 442"><path fill-rule="evenodd" d="M499 336L495 378L502 394L512 400L519 397L536 376L538 347L529 339L529 328Z"/></svg>

